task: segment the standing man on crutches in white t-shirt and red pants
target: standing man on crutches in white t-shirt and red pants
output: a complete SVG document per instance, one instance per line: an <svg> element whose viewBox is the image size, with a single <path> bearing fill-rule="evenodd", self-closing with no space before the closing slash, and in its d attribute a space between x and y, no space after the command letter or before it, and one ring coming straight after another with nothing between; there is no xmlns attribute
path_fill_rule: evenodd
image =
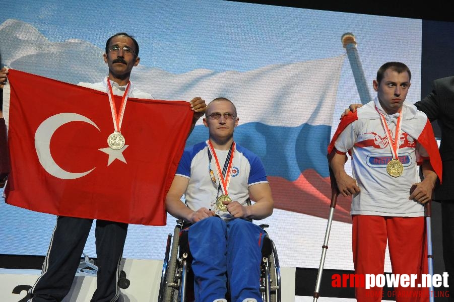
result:
<svg viewBox="0 0 454 302"><path fill-rule="evenodd" d="M330 143L330 165L339 191L353 195L352 245L356 274L383 274L386 242L394 274L427 273L424 203L441 177L438 145L427 116L404 102L410 69L387 62L377 71L374 101L342 118ZM352 157L352 175L344 170ZM421 180L417 165L421 164ZM358 301L376 301L381 288L356 287ZM428 300L428 288L397 286L397 301ZM377 298L378 297L378 298ZM413 297L415 298L415 297Z"/></svg>

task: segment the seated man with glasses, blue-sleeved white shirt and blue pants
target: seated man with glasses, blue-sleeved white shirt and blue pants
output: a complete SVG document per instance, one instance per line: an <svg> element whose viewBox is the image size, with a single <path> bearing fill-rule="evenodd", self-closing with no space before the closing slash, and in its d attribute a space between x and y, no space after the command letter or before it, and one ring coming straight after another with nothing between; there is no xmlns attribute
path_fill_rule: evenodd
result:
<svg viewBox="0 0 454 302"><path fill-rule="evenodd" d="M167 211L192 223L183 232L193 257L197 302L226 301L227 286L231 301L262 300L265 233L251 219L270 216L273 197L260 158L233 140L238 120L230 100L208 104L209 138L184 150L166 197Z"/></svg>

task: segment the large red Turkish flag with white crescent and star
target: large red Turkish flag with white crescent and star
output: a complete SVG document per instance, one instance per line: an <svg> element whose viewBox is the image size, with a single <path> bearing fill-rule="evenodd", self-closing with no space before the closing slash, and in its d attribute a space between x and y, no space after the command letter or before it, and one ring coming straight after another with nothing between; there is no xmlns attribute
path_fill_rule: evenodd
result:
<svg viewBox="0 0 454 302"><path fill-rule="evenodd" d="M165 225L183 153L188 102L128 98L125 146L113 150L108 95L12 70L4 91L11 172L6 202L33 211ZM116 108L121 97L115 96Z"/></svg>

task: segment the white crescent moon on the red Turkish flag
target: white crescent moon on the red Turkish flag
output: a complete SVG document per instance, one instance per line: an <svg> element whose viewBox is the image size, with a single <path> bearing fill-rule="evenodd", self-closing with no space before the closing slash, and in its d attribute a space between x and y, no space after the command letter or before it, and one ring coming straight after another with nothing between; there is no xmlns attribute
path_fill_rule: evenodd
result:
<svg viewBox="0 0 454 302"><path fill-rule="evenodd" d="M39 163L47 173L60 179L80 178L96 168L82 173L71 173L60 168L50 154L50 139L55 130L66 123L76 121L89 123L99 130L98 126L92 120L83 115L77 113L59 113L44 120L35 132L35 148Z"/></svg>

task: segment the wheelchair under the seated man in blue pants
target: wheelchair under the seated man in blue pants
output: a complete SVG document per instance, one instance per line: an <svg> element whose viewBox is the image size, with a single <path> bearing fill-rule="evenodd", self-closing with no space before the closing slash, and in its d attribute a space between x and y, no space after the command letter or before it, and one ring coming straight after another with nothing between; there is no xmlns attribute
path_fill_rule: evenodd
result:
<svg viewBox="0 0 454 302"><path fill-rule="evenodd" d="M184 228L183 225L185 225L184 221L178 219L173 236L169 233L167 237L158 302L192 302L194 300L193 273L190 268L192 257L184 250L184 244L180 243L179 237L180 231ZM265 231L269 225L260 226ZM281 302L281 268L276 246L268 234L265 236L262 248L260 270L260 292L263 301Z"/></svg>

